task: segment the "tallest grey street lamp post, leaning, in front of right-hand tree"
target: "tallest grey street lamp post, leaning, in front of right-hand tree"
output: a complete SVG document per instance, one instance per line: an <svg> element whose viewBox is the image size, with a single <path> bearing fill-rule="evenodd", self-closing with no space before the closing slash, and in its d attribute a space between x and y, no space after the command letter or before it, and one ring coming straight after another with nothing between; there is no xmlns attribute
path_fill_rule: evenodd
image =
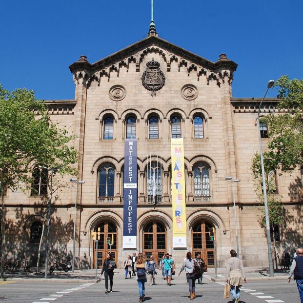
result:
<svg viewBox="0 0 303 303"><path fill-rule="evenodd" d="M263 183L263 197L264 197L264 208L265 208L265 222L266 222L266 238L267 238L267 250L268 250L268 264L269 264L269 276L274 276L274 264L272 261L272 252L271 252L271 241L270 241L270 224L269 224L269 215L268 215L268 204L267 204L267 193L266 193L266 182L265 182L265 172L264 172L264 162L263 162L263 148L261 141L261 132L260 132L260 112L261 106L264 101L264 98L269 90L269 88L273 87L275 81L270 80L267 84L267 89L265 95L259 105L258 108L258 134L259 134L259 146L260 146L260 160L261 160L261 171L262 171L262 183Z"/></svg>

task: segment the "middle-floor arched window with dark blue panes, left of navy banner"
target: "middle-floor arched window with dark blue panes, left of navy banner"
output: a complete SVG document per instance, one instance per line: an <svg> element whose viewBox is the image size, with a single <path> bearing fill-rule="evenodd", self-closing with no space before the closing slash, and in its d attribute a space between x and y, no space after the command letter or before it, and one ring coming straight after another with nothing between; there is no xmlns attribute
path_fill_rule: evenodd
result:
<svg viewBox="0 0 303 303"><path fill-rule="evenodd" d="M113 202L108 199L115 196L115 169L110 164L105 164L99 170L99 202Z"/></svg>

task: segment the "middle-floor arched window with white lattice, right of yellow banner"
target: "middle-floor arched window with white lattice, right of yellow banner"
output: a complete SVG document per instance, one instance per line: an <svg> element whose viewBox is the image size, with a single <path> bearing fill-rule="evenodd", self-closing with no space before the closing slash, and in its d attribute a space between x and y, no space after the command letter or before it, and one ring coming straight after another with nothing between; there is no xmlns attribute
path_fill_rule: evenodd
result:
<svg viewBox="0 0 303 303"><path fill-rule="evenodd" d="M196 201L201 201L202 198L204 201L209 200L209 170L203 163L199 163L194 167L194 190Z"/></svg>

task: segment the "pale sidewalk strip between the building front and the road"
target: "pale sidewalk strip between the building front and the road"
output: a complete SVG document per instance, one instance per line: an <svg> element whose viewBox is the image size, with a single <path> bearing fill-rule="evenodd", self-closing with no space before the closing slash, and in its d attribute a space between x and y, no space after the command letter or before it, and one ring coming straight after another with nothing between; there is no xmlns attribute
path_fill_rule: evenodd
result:
<svg viewBox="0 0 303 303"><path fill-rule="evenodd" d="M37 280L39 282L61 282L61 283L98 283L100 282L101 269L98 269L98 279L95 279L95 269L75 269L75 273L69 272L60 272L55 270L53 273L47 273L47 278L44 279L44 269L40 268L39 273L36 272L24 273L20 272L6 272L5 280L6 281L33 281ZM116 278L115 280L123 282L124 280L124 269L115 269ZM269 277L269 270L265 267L245 267L245 273L248 281L264 281L264 280L287 280L288 270L284 272L275 272L274 277ZM178 269L177 269L178 273ZM226 278L226 268L217 268L218 278L215 278L215 268L208 268L207 273L204 273L205 276L208 276L214 282L225 281ZM160 276L159 276L160 277Z"/></svg>

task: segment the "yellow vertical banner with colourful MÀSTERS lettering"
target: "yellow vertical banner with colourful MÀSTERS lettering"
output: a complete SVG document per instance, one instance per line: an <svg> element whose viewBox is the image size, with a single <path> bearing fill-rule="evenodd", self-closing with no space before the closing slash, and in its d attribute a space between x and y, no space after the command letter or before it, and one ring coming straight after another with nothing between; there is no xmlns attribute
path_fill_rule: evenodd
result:
<svg viewBox="0 0 303 303"><path fill-rule="evenodd" d="M185 169L183 139L171 139L173 247L186 248Z"/></svg>

